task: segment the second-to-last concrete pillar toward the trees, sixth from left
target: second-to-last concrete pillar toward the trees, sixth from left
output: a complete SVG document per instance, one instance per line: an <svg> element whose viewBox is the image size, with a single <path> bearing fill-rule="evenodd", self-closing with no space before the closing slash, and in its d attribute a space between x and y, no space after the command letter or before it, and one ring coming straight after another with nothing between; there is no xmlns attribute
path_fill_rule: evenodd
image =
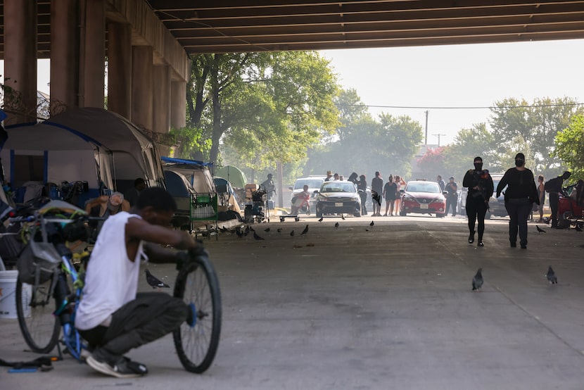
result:
<svg viewBox="0 0 584 390"><path fill-rule="evenodd" d="M152 130L167 133L170 130L170 67L155 65L152 77Z"/></svg>

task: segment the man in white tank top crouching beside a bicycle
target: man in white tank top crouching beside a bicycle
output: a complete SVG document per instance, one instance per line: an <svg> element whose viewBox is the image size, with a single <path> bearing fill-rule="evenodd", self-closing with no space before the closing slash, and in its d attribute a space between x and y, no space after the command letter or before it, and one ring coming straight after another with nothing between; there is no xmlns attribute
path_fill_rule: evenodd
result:
<svg viewBox="0 0 584 390"><path fill-rule="evenodd" d="M141 191L129 212L103 224L87 265L75 327L89 343L87 364L114 377L145 375L146 366L129 360L127 351L177 329L189 308L160 292L137 294L140 260L173 262L175 249L203 250L189 234L167 228L177 206L163 188Z"/></svg>

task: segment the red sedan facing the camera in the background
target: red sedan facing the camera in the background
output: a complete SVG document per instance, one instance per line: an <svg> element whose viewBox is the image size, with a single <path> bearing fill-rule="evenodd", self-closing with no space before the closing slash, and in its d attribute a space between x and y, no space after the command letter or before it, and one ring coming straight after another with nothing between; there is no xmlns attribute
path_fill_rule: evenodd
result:
<svg viewBox="0 0 584 390"><path fill-rule="evenodd" d="M445 215L447 191L440 191L437 182L414 180L407 182L405 189L400 189L400 215L407 213L436 214L441 218Z"/></svg>

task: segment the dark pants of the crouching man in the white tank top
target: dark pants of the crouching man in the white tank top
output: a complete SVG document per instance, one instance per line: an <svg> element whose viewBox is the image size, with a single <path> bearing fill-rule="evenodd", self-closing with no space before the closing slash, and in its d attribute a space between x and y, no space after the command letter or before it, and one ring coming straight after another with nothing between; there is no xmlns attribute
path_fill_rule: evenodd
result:
<svg viewBox="0 0 584 390"><path fill-rule="evenodd" d="M115 356L160 339L186 320L188 308L179 298L162 292L139 293L115 310L109 327L80 330L90 349L101 347Z"/></svg>

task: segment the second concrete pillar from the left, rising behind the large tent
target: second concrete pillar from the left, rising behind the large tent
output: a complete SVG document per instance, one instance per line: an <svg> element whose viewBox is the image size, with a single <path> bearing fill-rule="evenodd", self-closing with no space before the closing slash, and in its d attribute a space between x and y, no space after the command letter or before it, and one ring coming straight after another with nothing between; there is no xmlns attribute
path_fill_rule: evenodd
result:
<svg viewBox="0 0 584 390"><path fill-rule="evenodd" d="M51 115L79 106L77 0L51 0Z"/></svg>

